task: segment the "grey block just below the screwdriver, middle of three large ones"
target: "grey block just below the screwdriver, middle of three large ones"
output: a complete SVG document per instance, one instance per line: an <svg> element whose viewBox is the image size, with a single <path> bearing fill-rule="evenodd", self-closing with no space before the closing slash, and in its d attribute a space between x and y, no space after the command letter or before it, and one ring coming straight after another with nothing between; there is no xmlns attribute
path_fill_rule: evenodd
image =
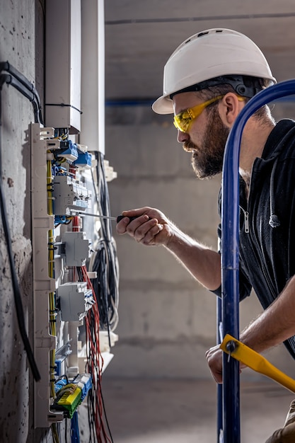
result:
<svg viewBox="0 0 295 443"><path fill-rule="evenodd" d="M91 251L85 232L66 231L62 234L65 243L66 266L83 266L90 258Z"/></svg>

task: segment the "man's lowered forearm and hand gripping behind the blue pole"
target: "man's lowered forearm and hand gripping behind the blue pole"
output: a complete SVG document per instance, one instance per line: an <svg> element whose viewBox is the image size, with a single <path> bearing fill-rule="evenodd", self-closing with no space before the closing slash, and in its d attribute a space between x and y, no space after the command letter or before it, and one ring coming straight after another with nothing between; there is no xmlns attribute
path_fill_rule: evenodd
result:
<svg viewBox="0 0 295 443"><path fill-rule="evenodd" d="M240 340L256 352L263 352L295 335L295 277L277 299L241 333ZM222 382L222 351L214 346L206 352L213 378Z"/></svg>

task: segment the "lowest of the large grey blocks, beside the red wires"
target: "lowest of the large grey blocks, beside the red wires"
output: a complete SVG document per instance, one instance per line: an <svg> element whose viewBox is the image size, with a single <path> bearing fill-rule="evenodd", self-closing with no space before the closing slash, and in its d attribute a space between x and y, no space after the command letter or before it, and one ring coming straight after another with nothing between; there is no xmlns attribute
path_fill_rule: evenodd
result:
<svg viewBox="0 0 295 443"><path fill-rule="evenodd" d="M81 321L95 303L86 282L60 284L57 289L62 321Z"/></svg>

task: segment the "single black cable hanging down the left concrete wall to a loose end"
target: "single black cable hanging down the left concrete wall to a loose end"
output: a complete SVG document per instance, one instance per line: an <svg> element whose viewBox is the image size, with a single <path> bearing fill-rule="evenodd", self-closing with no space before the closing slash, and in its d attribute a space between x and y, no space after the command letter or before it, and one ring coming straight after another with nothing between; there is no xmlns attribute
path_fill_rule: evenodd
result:
<svg viewBox="0 0 295 443"><path fill-rule="evenodd" d="M2 121L1 121L1 87L0 87L0 153L2 150L1 146L1 132L2 132ZM28 335L25 330L25 318L23 313L23 303L21 299L21 291L18 286L18 279L16 277L16 267L13 261L13 252L11 248L11 235L8 227L7 222L7 212L6 212L6 203L4 199L4 192L2 188L2 163L1 163L1 156L0 156L0 209L1 209L1 217L2 217L2 224L4 229L4 235L6 239L6 248L8 253L8 261L10 265L11 270L11 283L13 287L13 296L14 296L14 302L16 306L16 316L18 318L18 328L21 333L21 338L23 340L23 345L25 347L25 352L28 356L28 362L30 364L30 368L32 369L33 377L35 381L39 381L41 379L40 372L37 369L37 364L35 362L35 358L33 355L33 351L30 347L30 341L28 339Z"/></svg>

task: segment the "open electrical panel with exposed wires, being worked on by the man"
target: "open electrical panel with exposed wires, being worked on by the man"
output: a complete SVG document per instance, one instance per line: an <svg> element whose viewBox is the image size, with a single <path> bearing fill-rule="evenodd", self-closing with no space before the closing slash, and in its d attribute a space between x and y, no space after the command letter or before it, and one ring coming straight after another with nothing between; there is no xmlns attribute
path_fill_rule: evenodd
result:
<svg viewBox="0 0 295 443"><path fill-rule="evenodd" d="M68 127L34 123L30 136L34 355L41 376L34 422L49 427L73 419L91 389L99 400L100 376L117 341L115 242L110 220L95 217L110 215L103 187L116 174L100 153L71 140Z"/></svg>

